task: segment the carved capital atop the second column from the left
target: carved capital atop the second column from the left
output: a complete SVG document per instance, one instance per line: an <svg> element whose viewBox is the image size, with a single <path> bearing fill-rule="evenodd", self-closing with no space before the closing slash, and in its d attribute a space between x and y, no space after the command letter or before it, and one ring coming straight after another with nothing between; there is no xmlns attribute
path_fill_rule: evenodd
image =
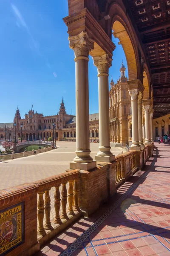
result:
<svg viewBox="0 0 170 256"><path fill-rule="evenodd" d="M94 66L97 67L98 74L109 72L109 67L112 65L112 58L108 54L103 54L101 56L93 57Z"/></svg>

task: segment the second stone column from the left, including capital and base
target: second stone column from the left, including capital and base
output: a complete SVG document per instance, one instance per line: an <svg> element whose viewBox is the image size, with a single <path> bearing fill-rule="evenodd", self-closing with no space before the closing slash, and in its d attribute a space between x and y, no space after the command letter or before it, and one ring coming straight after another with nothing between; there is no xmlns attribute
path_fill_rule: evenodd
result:
<svg viewBox="0 0 170 256"><path fill-rule="evenodd" d="M94 65L98 70L99 86L99 152L95 156L96 161L112 162L115 156L111 153L109 134L109 81L108 71L111 67L112 58L108 54L93 57Z"/></svg>

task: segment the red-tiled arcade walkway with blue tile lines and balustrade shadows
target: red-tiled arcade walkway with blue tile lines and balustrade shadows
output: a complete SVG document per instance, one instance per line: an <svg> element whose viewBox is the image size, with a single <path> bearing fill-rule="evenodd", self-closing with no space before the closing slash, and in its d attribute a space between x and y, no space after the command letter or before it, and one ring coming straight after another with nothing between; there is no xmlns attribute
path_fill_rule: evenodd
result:
<svg viewBox="0 0 170 256"><path fill-rule="evenodd" d="M170 145L90 218L82 218L36 256L170 255Z"/></svg>

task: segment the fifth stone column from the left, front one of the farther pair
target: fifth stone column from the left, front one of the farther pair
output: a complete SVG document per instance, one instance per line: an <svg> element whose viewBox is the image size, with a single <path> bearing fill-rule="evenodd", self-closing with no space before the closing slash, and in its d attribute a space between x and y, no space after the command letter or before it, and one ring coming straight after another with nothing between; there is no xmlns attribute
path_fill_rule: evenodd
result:
<svg viewBox="0 0 170 256"><path fill-rule="evenodd" d="M151 140L150 140L150 100L143 100L143 105L144 105L144 114L145 114L145 145L150 145Z"/></svg>

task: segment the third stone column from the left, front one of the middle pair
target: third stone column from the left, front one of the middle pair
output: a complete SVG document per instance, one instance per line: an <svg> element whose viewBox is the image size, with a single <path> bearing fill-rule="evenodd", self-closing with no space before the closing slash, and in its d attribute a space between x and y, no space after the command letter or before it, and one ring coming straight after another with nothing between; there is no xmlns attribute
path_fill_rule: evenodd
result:
<svg viewBox="0 0 170 256"><path fill-rule="evenodd" d="M130 150L140 150L138 131L138 95L139 89L130 89L129 94L132 104L132 145Z"/></svg>

